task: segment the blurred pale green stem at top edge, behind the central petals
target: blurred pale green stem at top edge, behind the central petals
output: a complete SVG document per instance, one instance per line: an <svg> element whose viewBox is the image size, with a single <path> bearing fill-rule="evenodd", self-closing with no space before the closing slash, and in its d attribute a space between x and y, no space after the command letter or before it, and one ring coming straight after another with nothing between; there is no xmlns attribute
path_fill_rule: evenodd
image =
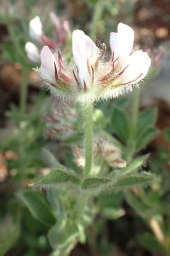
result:
<svg viewBox="0 0 170 256"><path fill-rule="evenodd" d="M94 15L92 18L92 22L91 22L91 30L90 30L90 37L91 38L95 38L96 34L97 34L97 28L99 26L99 21L101 19L101 14L103 11L103 7L104 7L104 1L99 1L96 5L95 5L95 9L94 9Z"/></svg>

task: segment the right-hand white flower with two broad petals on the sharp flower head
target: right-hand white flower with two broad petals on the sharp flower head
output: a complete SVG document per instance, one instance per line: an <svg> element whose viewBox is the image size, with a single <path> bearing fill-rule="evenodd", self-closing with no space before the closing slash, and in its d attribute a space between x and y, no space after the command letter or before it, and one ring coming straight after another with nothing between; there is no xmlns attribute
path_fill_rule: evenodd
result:
<svg viewBox="0 0 170 256"><path fill-rule="evenodd" d="M136 84L142 80L151 65L150 57L146 52L136 51L130 55L134 43L134 31L131 27L119 23L117 33L111 32L110 46L114 68L124 71L120 76L120 83ZM129 56L130 55L130 56Z"/></svg>

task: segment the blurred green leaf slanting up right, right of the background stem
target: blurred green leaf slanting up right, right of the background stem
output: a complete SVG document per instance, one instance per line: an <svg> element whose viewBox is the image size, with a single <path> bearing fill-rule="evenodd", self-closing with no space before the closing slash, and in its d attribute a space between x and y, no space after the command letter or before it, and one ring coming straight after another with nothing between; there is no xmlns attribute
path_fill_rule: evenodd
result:
<svg viewBox="0 0 170 256"><path fill-rule="evenodd" d="M147 144L149 144L152 139L156 137L157 134L158 130L153 127L148 127L147 129L143 130L143 133L141 133L141 135L139 135L138 138L135 139L136 151L138 152L145 148Z"/></svg>

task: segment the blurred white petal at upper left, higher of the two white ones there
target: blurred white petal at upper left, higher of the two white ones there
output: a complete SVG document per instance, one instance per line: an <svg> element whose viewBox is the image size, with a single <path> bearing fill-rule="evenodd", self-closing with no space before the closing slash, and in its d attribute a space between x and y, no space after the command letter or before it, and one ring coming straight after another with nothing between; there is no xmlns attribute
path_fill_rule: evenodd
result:
<svg viewBox="0 0 170 256"><path fill-rule="evenodd" d="M37 40L37 42L41 43L41 35L42 35L42 24L39 16L31 19L29 22L29 35L31 38Z"/></svg>

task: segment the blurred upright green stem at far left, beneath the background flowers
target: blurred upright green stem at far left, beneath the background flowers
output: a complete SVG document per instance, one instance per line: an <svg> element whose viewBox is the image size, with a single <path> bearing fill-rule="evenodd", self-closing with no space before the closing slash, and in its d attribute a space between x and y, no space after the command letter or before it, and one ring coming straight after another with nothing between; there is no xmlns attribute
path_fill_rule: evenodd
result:
<svg viewBox="0 0 170 256"><path fill-rule="evenodd" d="M22 69L22 82L20 85L20 114L23 116L27 108L27 91L28 91L28 68Z"/></svg>

